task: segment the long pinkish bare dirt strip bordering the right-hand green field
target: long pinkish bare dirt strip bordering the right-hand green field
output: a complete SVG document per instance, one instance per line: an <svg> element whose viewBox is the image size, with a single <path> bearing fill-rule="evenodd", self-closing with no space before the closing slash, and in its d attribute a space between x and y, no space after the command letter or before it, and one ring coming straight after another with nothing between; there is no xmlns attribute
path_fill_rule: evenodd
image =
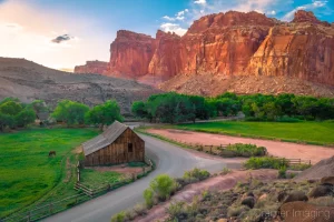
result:
<svg viewBox="0 0 334 222"><path fill-rule="evenodd" d="M206 145L252 143L267 148L269 154L272 155L287 159L311 160L313 164L320 162L323 159L334 155L334 149L320 145L297 144L250 138L237 138L230 135L190 132L183 130L149 129L148 132L159 134L171 140Z"/></svg>

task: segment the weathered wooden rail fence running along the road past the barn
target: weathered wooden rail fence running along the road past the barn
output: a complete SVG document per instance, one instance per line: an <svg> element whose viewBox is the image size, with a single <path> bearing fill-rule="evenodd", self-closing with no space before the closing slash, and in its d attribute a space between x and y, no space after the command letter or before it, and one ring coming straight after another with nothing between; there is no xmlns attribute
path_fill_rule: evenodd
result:
<svg viewBox="0 0 334 222"><path fill-rule="evenodd" d="M31 209L23 213L14 213L10 216L7 216L4 219L0 219L0 222L32 222L38 221L43 218L47 218L49 215L52 215L55 213L65 211L71 206L75 206L77 204L80 204L85 201L88 201L97 195L101 195L104 193L107 193L109 191L116 190L125 184L128 184L147 173L154 170L154 164L150 159L145 157L145 162L148 164L145 170L143 170L141 173L131 174L129 176L124 178L119 182L116 183L108 183L104 184L100 188L97 189L90 189L84 184L80 183L80 169L79 163L77 164L77 183L75 184L75 190L77 190L79 193L77 195L68 196L59 201L45 203L42 205L39 205L35 209Z"/></svg>

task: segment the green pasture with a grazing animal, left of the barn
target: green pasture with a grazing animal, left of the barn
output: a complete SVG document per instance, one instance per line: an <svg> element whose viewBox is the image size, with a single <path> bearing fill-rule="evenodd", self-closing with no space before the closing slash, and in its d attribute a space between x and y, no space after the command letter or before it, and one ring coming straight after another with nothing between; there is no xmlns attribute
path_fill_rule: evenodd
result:
<svg viewBox="0 0 334 222"><path fill-rule="evenodd" d="M0 134L0 218L22 209L55 186L65 186L72 150L97 135L94 129L36 129ZM49 158L49 151L57 155ZM63 189L56 189L62 190ZM71 185L71 192L72 191Z"/></svg>

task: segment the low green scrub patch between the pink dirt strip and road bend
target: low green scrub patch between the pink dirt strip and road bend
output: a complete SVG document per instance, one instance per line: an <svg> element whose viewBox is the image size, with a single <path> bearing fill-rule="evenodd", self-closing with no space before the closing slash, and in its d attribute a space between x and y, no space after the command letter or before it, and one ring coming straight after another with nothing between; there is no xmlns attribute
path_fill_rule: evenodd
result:
<svg viewBox="0 0 334 222"><path fill-rule="evenodd" d="M235 143L227 145L226 150L235 152L237 157L263 157L267 154L267 149L255 144Z"/></svg>

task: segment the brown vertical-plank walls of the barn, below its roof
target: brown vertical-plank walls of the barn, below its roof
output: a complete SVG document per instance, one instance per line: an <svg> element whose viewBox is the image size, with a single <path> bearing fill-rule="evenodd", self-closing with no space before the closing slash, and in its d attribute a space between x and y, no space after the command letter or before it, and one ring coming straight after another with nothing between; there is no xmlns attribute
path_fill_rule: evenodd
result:
<svg viewBox="0 0 334 222"><path fill-rule="evenodd" d="M132 152L128 152L132 143ZM107 165L127 162L144 162L145 142L127 129L114 143L86 157L85 165Z"/></svg>

